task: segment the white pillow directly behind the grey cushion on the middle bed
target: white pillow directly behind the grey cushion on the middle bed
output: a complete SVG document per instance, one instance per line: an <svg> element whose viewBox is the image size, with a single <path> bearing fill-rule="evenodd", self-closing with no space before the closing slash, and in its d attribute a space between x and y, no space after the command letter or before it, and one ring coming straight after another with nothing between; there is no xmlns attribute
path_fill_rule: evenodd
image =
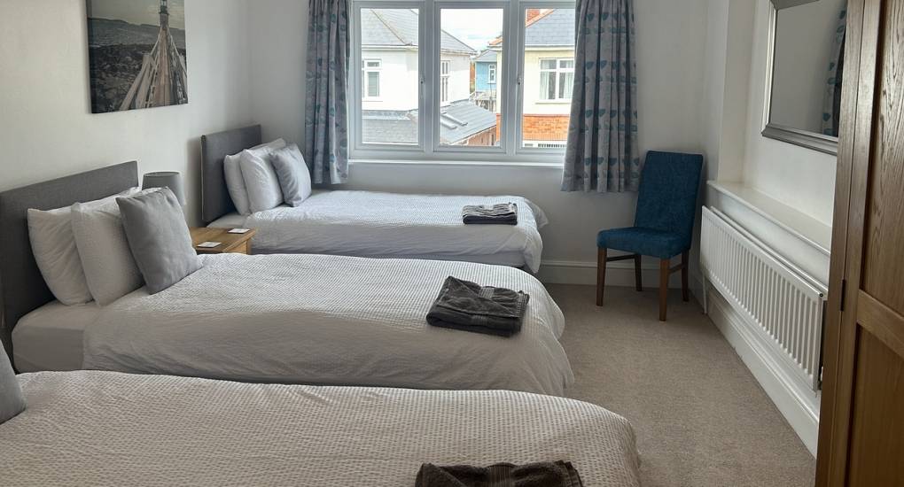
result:
<svg viewBox="0 0 904 487"><path fill-rule="evenodd" d="M154 191L159 190L138 194ZM85 280L98 304L106 306L143 285L115 200L94 208L72 205L72 234Z"/></svg>

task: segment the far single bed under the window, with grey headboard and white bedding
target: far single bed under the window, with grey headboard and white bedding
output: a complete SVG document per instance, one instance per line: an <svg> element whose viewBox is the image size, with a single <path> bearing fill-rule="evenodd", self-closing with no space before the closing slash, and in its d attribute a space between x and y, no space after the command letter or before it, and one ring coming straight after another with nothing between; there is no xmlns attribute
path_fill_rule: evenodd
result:
<svg viewBox="0 0 904 487"><path fill-rule="evenodd" d="M428 258L540 268L543 212L518 196L387 192L315 192L296 208L244 217L235 211L223 170L226 155L261 143L260 126L202 136L202 217L212 227L258 229L257 253L323 253L371 258ZM512 201L517 225L465 225L466 205Z"/></svg>

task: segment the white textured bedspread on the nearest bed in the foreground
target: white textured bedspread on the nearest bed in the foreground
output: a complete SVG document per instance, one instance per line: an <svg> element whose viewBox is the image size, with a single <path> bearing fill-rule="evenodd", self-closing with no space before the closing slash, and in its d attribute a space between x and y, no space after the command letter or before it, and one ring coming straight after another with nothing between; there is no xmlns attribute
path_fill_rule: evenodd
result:
<svg viewBox="0 0 904 487"><path fill-rule="evenodd" d="M110 372L20 376L5 485L414 485L423 462L570 461L639 485L626 419L564 398L240 384Z"/></svg>

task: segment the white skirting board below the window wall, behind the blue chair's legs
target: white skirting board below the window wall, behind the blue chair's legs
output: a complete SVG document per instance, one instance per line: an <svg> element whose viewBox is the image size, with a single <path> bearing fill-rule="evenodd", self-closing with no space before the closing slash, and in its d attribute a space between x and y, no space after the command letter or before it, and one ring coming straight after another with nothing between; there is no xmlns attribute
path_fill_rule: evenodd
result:
<svg viewBox="0 0 904 487"><path fill-rule="evenodd" d="M634 286L634 261L620 260L607 265L606 286ZM659 286L659 267L641 265L644 287ZM597 263L568 260L544 260L537 273L543 284L597 285ZM669 287L681 287L681 273L674 273Z"/></svg>

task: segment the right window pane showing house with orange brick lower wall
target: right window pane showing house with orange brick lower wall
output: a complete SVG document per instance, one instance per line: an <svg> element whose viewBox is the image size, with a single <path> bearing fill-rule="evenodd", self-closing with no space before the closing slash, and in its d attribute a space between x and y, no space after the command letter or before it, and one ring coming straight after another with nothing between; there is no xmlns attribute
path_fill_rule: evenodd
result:
<svg viewBox="0 0 904 487"><path fill-rule="evenodd" d="M574 84L574 9L528 8L524 17L524 147L561 148Z"/></svg>

